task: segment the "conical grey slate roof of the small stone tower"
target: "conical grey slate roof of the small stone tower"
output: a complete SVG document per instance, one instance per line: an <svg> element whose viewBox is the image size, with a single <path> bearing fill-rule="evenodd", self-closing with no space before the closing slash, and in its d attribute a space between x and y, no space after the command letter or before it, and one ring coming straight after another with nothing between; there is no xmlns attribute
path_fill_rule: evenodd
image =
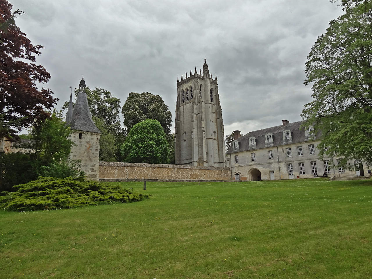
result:
<svg viewBox="0 0 372 279"><path fill-rule="evenodd" d="M77 93L74 112L72 114L70 122L70 128L71 130L100 133L101 131L97 128L96 124L94 124L92 115L90 114L87 93L84 92L84 79L80 81L79 86L80 92Z"/></svg>

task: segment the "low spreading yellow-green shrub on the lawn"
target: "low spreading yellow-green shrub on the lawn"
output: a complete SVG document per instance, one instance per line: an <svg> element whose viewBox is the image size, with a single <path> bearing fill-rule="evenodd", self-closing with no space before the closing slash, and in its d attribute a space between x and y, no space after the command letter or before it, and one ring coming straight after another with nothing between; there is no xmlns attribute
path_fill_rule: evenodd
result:
<svg viewBox="0 0 372 279"><path fill-rule="evenodd" d="M13 211L74 208L88 205L138 202L148 195L133 193L113 183L84 177L42 177L13 186L16 192L1 192L0 208Z"/></svg>

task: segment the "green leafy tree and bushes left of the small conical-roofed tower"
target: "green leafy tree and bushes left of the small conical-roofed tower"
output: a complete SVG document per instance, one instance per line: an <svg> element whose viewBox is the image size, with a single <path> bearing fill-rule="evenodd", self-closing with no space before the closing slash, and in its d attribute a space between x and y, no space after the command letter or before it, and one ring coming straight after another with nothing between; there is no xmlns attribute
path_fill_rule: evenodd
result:
<svg viewBox="0 0 372 279"><path fill-rule="evenodd" d="M29 133L30 142L23 148L30 153L9 153L0 156L0 192L11 191L17 184L36 179L39 175L64 178L78 176L80 162L69 160L73 142L68 138L70 128L65 126L62 113L37 121Z"/></svg>

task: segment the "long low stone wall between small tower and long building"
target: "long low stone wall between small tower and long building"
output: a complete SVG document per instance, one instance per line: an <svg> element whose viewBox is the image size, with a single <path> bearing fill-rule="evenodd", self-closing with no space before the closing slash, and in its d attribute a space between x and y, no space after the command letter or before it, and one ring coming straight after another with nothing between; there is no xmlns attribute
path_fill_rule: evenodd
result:
<svg viewBox="0 0 372 279"><path fill-rule="evenodd" d="M99 162L100 179L230 180L230 169L165 164Z"/></svg>

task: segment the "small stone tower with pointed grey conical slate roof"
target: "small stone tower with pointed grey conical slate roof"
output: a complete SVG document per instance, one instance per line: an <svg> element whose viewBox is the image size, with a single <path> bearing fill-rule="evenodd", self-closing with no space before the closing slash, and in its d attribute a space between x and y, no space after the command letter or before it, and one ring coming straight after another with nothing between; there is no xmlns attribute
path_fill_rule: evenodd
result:
<svg viewBox="0 0 372 279"><path fill-rule="evenodd" d="M73 107L72 94L66 115L66 123L72 133L70 140L76 144L71 148L70 158L81 160L81 170L90 180L99 179L99 138L101 132L94 124L90 114L84 76L79 84L76 103Z"/></svg>

